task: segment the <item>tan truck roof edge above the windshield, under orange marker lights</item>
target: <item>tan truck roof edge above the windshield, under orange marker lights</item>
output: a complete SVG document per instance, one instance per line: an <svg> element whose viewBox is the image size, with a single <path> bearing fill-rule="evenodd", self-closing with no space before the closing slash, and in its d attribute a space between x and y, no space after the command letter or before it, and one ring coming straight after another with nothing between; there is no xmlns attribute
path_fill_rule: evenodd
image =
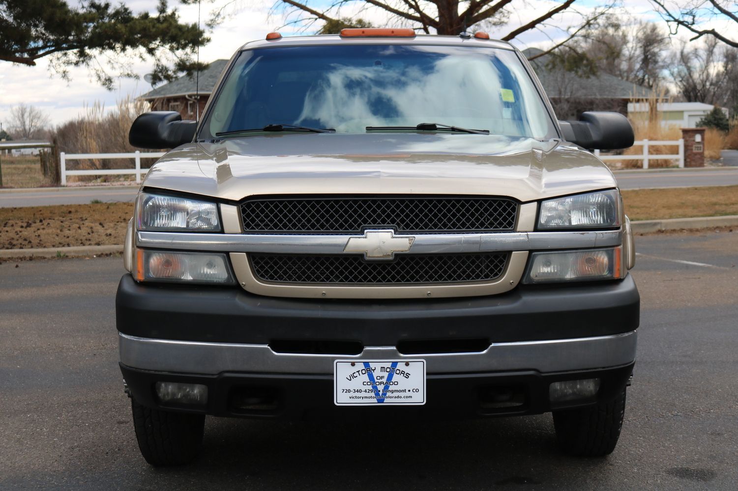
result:
<svg viewBox="0 0 738 491"><path fill-rule="evenodd" d="M285 36L276 39L261 39L258 41L249 41L241 46L239 51L244 49L260 49L275 46L320 46L329 44L416 44L416 45L432 45L432 46L475 46L485 48L500 48L514 50L514 46L506 41L498 41L493 39L478 39L475 37L462 38L455 35L430 35L418 34L413 37L399 36L367 36L367 37L342 37L337 34L311 35L311 36Z"/></svg>

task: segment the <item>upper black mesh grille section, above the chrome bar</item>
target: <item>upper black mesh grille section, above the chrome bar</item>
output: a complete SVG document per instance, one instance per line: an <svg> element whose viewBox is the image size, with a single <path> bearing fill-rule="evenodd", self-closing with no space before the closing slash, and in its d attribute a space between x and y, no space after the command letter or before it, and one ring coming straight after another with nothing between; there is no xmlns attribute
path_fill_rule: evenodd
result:
<svg viewBox="0 0 738 491"><path fill-rule="evenodd" d="M517 203L506 198L275 198L241 203L245 233L401 234L511 231Z"/></svg>

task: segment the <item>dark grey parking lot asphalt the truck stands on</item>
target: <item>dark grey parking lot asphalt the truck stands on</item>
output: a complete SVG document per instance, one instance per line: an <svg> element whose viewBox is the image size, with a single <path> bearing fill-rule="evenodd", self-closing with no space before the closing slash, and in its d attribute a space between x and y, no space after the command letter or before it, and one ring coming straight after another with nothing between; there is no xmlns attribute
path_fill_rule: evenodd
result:
<svg viewBox="0 0 738 491"><path fill-rule="evenodd" d="M0 489L734 490L738 231L638 237L638 361L620 444L557 453L549 415L208 418L190 467L139 455L117 368L120 258L0 265ZM316 397L321 397L316 394Z"/></svg>

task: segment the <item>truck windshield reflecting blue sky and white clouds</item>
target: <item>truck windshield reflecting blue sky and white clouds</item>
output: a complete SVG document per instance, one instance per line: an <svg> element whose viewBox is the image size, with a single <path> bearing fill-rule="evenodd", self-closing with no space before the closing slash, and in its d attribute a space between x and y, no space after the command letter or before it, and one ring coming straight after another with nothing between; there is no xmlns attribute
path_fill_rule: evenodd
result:
<svg viewBox="0 0 738 491"><path fill-rule="evenodd" d="M537 139L554 134L515 53L466 46L246 50L206 117L205 139L267 125L365 133L438 123Z"/></svg>

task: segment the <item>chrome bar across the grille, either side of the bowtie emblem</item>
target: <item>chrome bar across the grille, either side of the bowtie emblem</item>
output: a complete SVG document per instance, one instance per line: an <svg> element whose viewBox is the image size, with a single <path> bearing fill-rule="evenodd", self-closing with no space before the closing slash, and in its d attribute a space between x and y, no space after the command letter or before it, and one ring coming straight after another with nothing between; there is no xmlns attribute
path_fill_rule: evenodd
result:
<svg viewBox="0 0 738 491"><path fill-rule="evenodd" d="M361 235L199 234L137 231L139 247L181 251L266 252L275 254L347 254L351 237ZM533 231L491 234L418 234L402 254L461 254L482 251L539 251L621 245L621 230Z"/></svg>

